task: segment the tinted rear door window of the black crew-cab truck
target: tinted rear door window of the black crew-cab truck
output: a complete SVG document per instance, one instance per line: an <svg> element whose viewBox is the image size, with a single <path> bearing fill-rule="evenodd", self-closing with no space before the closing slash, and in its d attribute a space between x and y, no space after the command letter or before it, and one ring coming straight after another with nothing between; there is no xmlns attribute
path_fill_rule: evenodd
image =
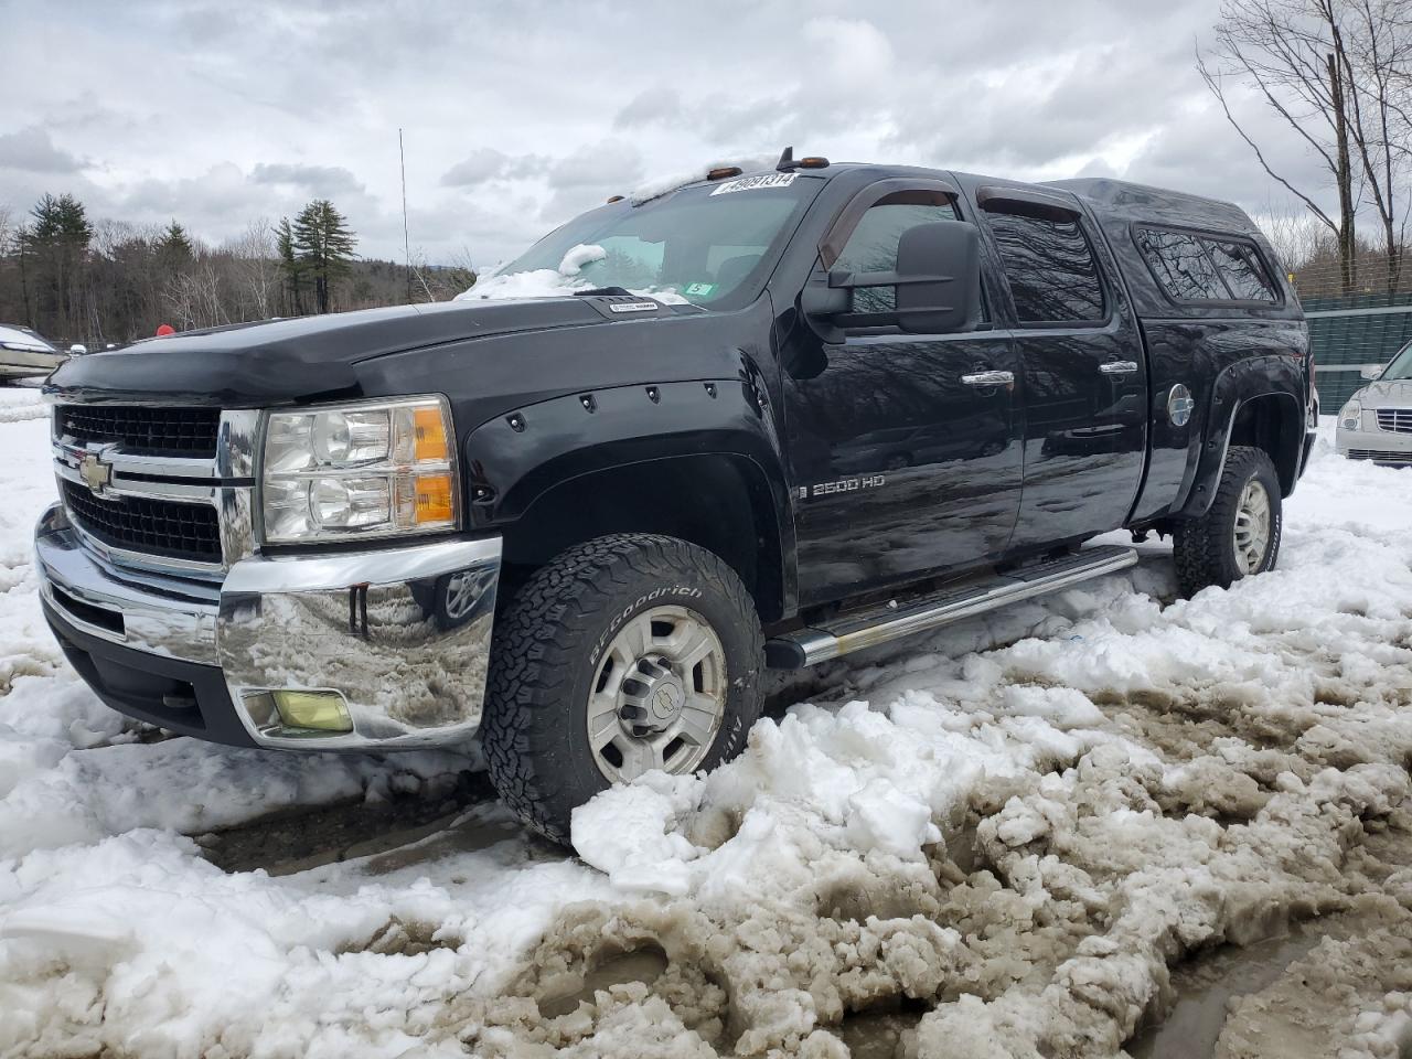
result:
<svg viewBox="0 0 1412 1059"><path fill-rule="evenodd" d="M1021 323L1096 323L1107 316L1103 278L1077 217L988 210Z"/></svg>

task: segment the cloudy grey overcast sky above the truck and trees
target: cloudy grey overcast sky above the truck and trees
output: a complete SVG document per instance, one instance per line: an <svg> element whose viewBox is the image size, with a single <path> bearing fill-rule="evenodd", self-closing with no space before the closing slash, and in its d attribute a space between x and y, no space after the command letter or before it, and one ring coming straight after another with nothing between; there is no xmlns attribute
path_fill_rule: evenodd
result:
<svg viewBox="0 0 1412 1059"><path fill-rule="evenodd" d="M1216 0L0 0L0 205L208 241L313 196L369 257L487 264L609 195L798 154L1274 198L1193 66ZM1275 160L1312 172L1272 128Z"/></svg>

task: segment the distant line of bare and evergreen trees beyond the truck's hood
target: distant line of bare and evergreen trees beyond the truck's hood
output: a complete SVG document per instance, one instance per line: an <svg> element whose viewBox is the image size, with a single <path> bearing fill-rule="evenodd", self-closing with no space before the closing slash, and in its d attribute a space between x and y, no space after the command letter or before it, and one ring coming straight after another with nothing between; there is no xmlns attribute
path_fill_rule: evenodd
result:
<svg viewBox="0 0 1412 1059"><path fill-rule="evenodd" d="M59 345L102 347L178 330L340 309L443 301L474 284L469 263L411 267L361 258L328 199L295 217L253 219L212 246L176 220L90 219L68 193L27 213L0 203L0 323Z"/></svg>

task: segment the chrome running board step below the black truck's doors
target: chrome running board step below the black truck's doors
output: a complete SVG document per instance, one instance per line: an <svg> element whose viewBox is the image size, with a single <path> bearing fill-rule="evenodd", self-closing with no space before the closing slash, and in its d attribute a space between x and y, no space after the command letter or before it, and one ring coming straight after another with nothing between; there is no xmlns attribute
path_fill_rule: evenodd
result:
<svg viewBox="0 0 1412 1059"><path fill-rule="evenodd" d="M765 642L765 665L772 669L802 669L830 658L877 647L914 633L998 610L1010 603L1067 589L1090 578L1117 573L1134 566L1131 548L1101 545L1077 555L1021 566L981 582L969 582L938 596L888 603L853 614L840 614L826 624L810 626Z"/></svg>

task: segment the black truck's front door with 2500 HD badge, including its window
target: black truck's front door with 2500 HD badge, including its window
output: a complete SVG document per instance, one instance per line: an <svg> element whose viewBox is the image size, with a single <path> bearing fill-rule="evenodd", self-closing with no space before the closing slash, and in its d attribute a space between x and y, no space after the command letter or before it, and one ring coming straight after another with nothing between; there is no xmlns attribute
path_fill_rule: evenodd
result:
<svg viewBox="0 0 1412 1059"><path fill-rule="evenodd" d="M956 198L938 181L880 181L843 210L823 267L895 270L902 232L964 220ZM840 343L785 350L803 606L994 561L1015 527L1022 421L1011 335L988 323L918 335L870 322L894 306L895 288L860 288Z"/></svg>

